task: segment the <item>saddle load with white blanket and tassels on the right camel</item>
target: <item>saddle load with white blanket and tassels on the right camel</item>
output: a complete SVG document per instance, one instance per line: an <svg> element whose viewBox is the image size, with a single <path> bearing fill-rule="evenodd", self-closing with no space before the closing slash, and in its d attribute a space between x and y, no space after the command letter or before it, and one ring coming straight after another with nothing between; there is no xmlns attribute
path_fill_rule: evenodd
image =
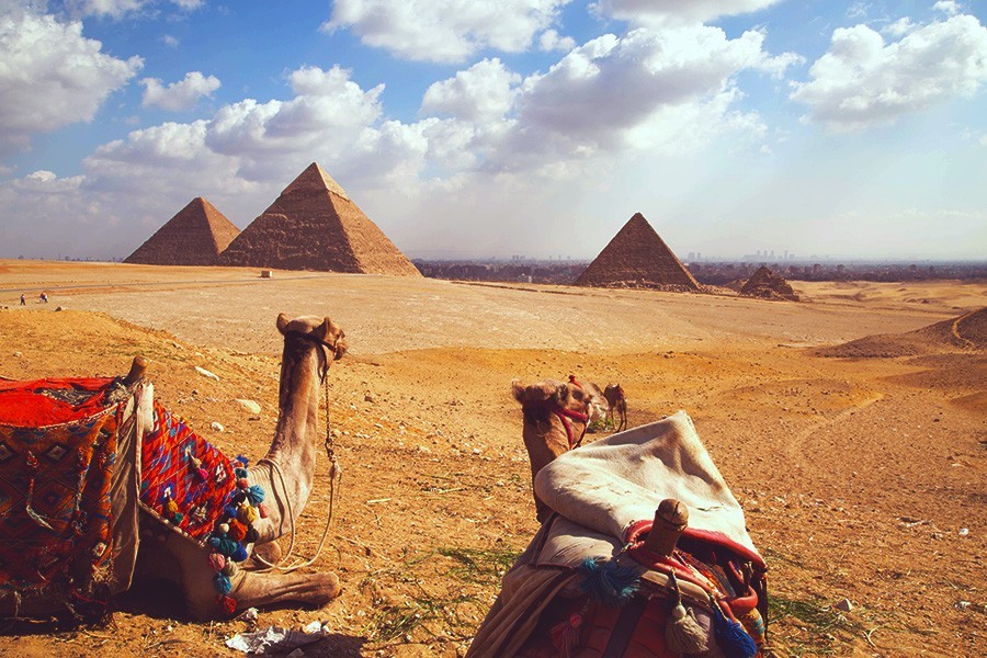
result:
<svg viewBox="0 0 987 658"><path fill-rule="evenodd" d="M467 658L770 655L767 566L684 411L558 455L534 490L548 513Z"/></svg>

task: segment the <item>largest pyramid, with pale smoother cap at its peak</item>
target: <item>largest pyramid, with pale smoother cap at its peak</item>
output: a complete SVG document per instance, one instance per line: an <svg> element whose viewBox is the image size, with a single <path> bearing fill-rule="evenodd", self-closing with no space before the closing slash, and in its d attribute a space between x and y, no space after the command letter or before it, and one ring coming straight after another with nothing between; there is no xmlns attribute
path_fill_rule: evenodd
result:
<svg viewBox="0 0 987 658"><path fill-rule="evenodd" d="M230 242L217 263L421 276L316 162Z"/></svg>

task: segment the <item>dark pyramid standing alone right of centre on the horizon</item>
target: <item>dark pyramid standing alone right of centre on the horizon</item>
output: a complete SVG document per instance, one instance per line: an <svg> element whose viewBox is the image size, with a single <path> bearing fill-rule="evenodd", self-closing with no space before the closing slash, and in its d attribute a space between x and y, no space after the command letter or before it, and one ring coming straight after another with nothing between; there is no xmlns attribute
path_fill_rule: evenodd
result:
<svg viewBox="0 0 987 658"><path fill-rule="evenodd" d="M576 285L697 291L699 283L640 213L635 213Z"/></svg>

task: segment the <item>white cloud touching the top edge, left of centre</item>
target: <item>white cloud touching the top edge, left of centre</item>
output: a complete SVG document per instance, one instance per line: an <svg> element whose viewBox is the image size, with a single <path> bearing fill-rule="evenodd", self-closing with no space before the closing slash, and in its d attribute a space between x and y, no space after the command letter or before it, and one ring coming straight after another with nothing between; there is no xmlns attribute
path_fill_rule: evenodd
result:
<svg viewBox="0 0 987 658"><path fill-rule="evenodd" d="M322 27L349 27L397 57L460 63L483 49L526 50L571 0L336 0Z"/></svg>

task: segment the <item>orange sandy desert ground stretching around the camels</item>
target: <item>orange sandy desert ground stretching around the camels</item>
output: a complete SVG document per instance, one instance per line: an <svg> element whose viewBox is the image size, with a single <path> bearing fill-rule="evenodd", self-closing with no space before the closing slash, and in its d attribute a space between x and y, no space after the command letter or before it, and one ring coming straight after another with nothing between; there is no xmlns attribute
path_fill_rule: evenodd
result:
<svg viewBox="0 0 987 658"><path fill-rule="evenodd" d="M778 655L987 654L984 343L930 339L885 359L816 352L975 310L987 284L795 282L796 304L258 274L0 261L0 375L122 374L144 354L166 407L256 458L275 423L275 316L341 325L351 352L330 370L329 418L343 479L318 568L344 590L321 610L263 610L257 622L326 622L332 635L306 656L465 651L536 530L511 379L568 373L620 382L632 426L692 415L768 560ZM260 402L260 417L236 398ZM295 542L306 556L328 512L325 460L318 473ZM136 588L106 627L8 625L0 655L231 655L224 640L251 627L189 622L175 597ZM843 599L849 612L836 608Z"/></svg>

